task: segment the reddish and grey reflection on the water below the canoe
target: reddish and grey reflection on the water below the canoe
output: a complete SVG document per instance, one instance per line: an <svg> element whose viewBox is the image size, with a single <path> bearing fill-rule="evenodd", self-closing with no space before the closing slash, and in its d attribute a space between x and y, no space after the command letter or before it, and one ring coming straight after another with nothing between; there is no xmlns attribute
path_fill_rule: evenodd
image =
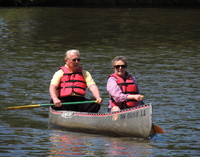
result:
<svg viewBox="0 0 200 157"><path fill-rule="evenodd" d="M150 155L152 153L149 142L138 139L110 138L87 134L74 134L54 130L50 141L54 145L51 155L61 156L134 156ZM98 147L97 147L98 144ZM137 150L143 147L142 150Z"/></svg>

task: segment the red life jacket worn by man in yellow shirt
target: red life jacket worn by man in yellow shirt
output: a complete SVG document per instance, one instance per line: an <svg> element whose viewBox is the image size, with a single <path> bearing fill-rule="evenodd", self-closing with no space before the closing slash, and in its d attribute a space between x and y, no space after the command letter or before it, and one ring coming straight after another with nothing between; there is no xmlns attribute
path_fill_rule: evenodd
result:
<svg viewBox="0 0 200 157"><path fill-rule="evenodd" d="M60 97L70 96L72 92L85 96L85 90L87 88L85 79L82 74L82 67L76 72L71 72L66 66L60 67L64 71L61 77L60 84L58 86L58 93Z"/></svg>

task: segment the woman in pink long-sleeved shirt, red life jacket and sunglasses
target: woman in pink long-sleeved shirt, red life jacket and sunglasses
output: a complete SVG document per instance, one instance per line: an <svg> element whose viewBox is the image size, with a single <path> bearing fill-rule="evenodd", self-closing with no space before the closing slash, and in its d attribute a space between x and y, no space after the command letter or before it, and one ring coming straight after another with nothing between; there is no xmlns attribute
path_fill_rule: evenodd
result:
<svg viewBox="0 0 200 157"><path fill-rule="evenodd" d="M109 76L107 82L107 91L110 95L108 112L142 105L143 95L140 95L136 80L126 71L126 57L116 56L111 63L115 73Z"/></svg>

